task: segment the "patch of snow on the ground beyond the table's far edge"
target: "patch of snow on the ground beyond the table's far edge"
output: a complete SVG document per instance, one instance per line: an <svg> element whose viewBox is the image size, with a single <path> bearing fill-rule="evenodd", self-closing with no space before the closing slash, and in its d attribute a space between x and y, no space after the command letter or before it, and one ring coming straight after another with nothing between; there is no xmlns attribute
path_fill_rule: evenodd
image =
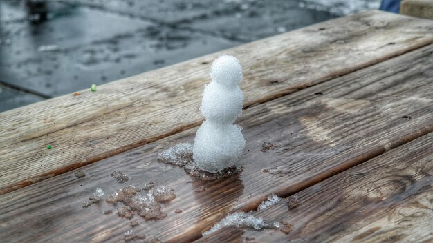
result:
<svg viewBox="0 0 433 243"><path fill-rule="evenodd" d="M300 1L299 6L342 16L362 10L378 9L380 0L304 0Z"/></svg>

